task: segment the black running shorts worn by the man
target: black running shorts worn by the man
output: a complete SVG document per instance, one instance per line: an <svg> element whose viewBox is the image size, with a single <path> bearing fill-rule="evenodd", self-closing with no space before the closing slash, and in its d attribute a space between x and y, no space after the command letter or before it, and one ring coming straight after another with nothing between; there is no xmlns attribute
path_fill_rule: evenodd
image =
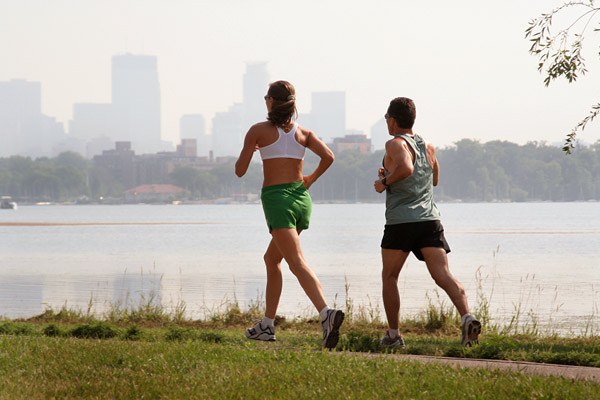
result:
<svg viewBox="0 0 600 400"><path fill-rule="evenodd" d="M408 222L386 225L381 239L381 248L413 252L421 261L423 247L441 247L450 253L450 246L444 237L444 227L439 220Z"/></svg>

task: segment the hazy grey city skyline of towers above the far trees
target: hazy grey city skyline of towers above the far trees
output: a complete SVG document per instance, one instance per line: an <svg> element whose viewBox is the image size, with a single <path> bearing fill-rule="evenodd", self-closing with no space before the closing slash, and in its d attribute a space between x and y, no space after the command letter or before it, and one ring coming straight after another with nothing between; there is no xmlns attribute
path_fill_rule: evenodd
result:
<svg viewBox="0 0 600 400"><path fill-rule="evenodd" d="M55 156L74 151L87 158L113 149L115 143L128 142L137 154L169 152L186 139L194 139L203 157L231 157L242 147L246 127L265 118L264 88L269 84L268 63L252 62L243 75L243 99L226 111L215 114L212 129L207 132L202 114L184 114L179 119L179 132L172 142L162 139L160 77L156 56L147 54L113 55L111 71L111 101L109 103L75 103L68 129L55 123L54 135L49 135L47 120L41 113L42 83L24 80L0 81L0 134L8 146L0 148L0 156ZM346 135L363 135L362 131L346 129L345 92L314 92L313 107L300 114L303 124L318 132L333 144ZM306 125L305 125L306 126ZM377 126L373 143L383 148L387 131ZM362 140L360 140L362 141ZM346 139L352 143L352 139ZM369 143L371 141L369 140ZM369 149L371 150L371 149Z"/></svg>

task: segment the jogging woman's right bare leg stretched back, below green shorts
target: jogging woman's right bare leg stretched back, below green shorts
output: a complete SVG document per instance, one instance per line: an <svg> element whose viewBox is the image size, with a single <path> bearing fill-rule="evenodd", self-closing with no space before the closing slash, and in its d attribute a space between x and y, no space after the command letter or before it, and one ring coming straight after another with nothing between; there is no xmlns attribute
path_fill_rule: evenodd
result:
<svg viewBox="0 0 600 400"><path fill-rule="evenodd" d="M319 279L304 260L299 232L295 229L279 228L273 229L271 235L279 252L288 263L290 271L296 276L317 311L321 311L327 303Z"/></svg>

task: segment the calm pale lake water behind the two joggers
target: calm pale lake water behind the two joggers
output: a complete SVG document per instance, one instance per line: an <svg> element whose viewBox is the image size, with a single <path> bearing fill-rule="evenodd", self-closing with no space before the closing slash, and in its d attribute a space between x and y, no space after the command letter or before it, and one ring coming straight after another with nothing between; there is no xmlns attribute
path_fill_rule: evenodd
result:
<svg viewBox="0 0 600 400"><path fill-rule="evenodd" d="M495 322L519 313L560 332L598 333L600 204L439 204L452 248L450 269L472 308ZM379 312L383 204L315 204L302 233L326 298ZM21 206L0 212L0 315L29 317L63 305L102 313L154 296L203 318L238 301L264 299L262 209L240 205ZM445 301L413 256L400 275L401 313ZM439 296L439 300L438 300ZM284 270L278 313L313 315Z"/></svg>

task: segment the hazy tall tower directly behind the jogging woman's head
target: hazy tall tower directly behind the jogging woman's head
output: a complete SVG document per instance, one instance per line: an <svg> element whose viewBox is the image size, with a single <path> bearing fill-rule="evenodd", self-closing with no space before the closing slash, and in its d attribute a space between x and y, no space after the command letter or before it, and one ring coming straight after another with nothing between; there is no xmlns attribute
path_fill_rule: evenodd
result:
<svg viewBox="0 0 600 400"><path fill-rule="evenodd" d="M266 62L246 64L244 74L243 120L242 126L248 129L258 121L264 121L267 109L263 97L269 89L269 73Z"/></svg>

